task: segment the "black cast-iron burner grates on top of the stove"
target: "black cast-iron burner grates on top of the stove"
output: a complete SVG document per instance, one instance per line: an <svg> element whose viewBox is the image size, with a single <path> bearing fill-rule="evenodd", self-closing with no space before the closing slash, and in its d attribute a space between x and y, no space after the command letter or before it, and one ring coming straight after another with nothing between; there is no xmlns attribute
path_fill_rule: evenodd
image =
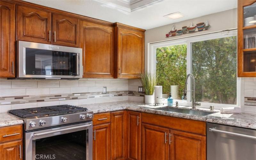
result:
<svg viewBox="0 0 256 160"><path fill-rule="evenodd" d="M81 111L86 111L87 108L71 106L71 105L57 105L48 107L24 108L9 110L9 113L19 116L21 118L28 118L34 116L55 116L62 114L71 114Z"/></svg>

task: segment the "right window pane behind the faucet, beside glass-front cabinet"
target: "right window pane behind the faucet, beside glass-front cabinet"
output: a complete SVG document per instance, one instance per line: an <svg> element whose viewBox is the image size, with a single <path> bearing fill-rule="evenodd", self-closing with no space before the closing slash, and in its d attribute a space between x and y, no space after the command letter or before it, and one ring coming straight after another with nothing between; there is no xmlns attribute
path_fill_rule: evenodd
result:
<svg viewBox="0 0 256 160"><path fill-rule="evenodd" d="M236 104L236 36L193 42L196 100Z"/></svg>

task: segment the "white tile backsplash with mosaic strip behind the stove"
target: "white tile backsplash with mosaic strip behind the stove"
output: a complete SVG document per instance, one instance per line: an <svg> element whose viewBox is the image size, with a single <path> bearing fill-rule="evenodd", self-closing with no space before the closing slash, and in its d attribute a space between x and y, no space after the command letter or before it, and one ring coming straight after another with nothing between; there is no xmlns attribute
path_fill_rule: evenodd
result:
<svg viewBox="0 0 256 160"><path fill-rule="evenodd" d="M50 105L83 105L111 101L143 101L139 80L8 80L0 78L0 113ZM107 94L103 94L107 87ZM130 89L130 90L129 90Z"/></svg>

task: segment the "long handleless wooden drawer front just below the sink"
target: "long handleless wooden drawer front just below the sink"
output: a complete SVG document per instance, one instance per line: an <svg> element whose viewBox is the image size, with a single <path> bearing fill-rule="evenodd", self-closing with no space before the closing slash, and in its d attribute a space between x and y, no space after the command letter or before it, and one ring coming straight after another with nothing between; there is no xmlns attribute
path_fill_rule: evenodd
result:
<svg viewBox="0 0 256 160"><path fill-rule="evenodd" d="M206 122L192 119L142 113L142 123L154 124L180 131L206 135Z"/></svg>

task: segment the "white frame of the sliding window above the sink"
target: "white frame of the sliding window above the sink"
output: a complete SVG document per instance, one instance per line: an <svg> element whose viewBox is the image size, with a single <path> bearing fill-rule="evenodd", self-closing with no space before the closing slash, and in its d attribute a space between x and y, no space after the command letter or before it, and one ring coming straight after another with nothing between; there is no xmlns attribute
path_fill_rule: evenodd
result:
<svg viewBox="0 0 256 160"><path fill-rule="evenodd" d="M188 75L189 73L192 73L192 43L193 42L206 41L206 40L224 38L224 37L230 37L230 36L236 36L237 38L237 29L210 33L205 35L177 38L173 40L148 44L148 61L147 61L148 65L145 68L149 73L156 74L156 48L178 45L178 44L187 44L187 75ZM236 47L236 50L237 50L237 47ZM190 88L190 85L191 85L191 80L189 78L187 87ZM236 78L236 105L201 102L200 108L209 108L210 106L214 106L216 109L220 109L222 107L239 107L243 105L244 98L241 95L244 92L241 92L242 91L241 87L243 87L243 78L237 77ZM187 100L174 100L174 101L178 101L180 105L191 105L192 104L191 92L188 92L187 94L188 94Z"/></svg>

